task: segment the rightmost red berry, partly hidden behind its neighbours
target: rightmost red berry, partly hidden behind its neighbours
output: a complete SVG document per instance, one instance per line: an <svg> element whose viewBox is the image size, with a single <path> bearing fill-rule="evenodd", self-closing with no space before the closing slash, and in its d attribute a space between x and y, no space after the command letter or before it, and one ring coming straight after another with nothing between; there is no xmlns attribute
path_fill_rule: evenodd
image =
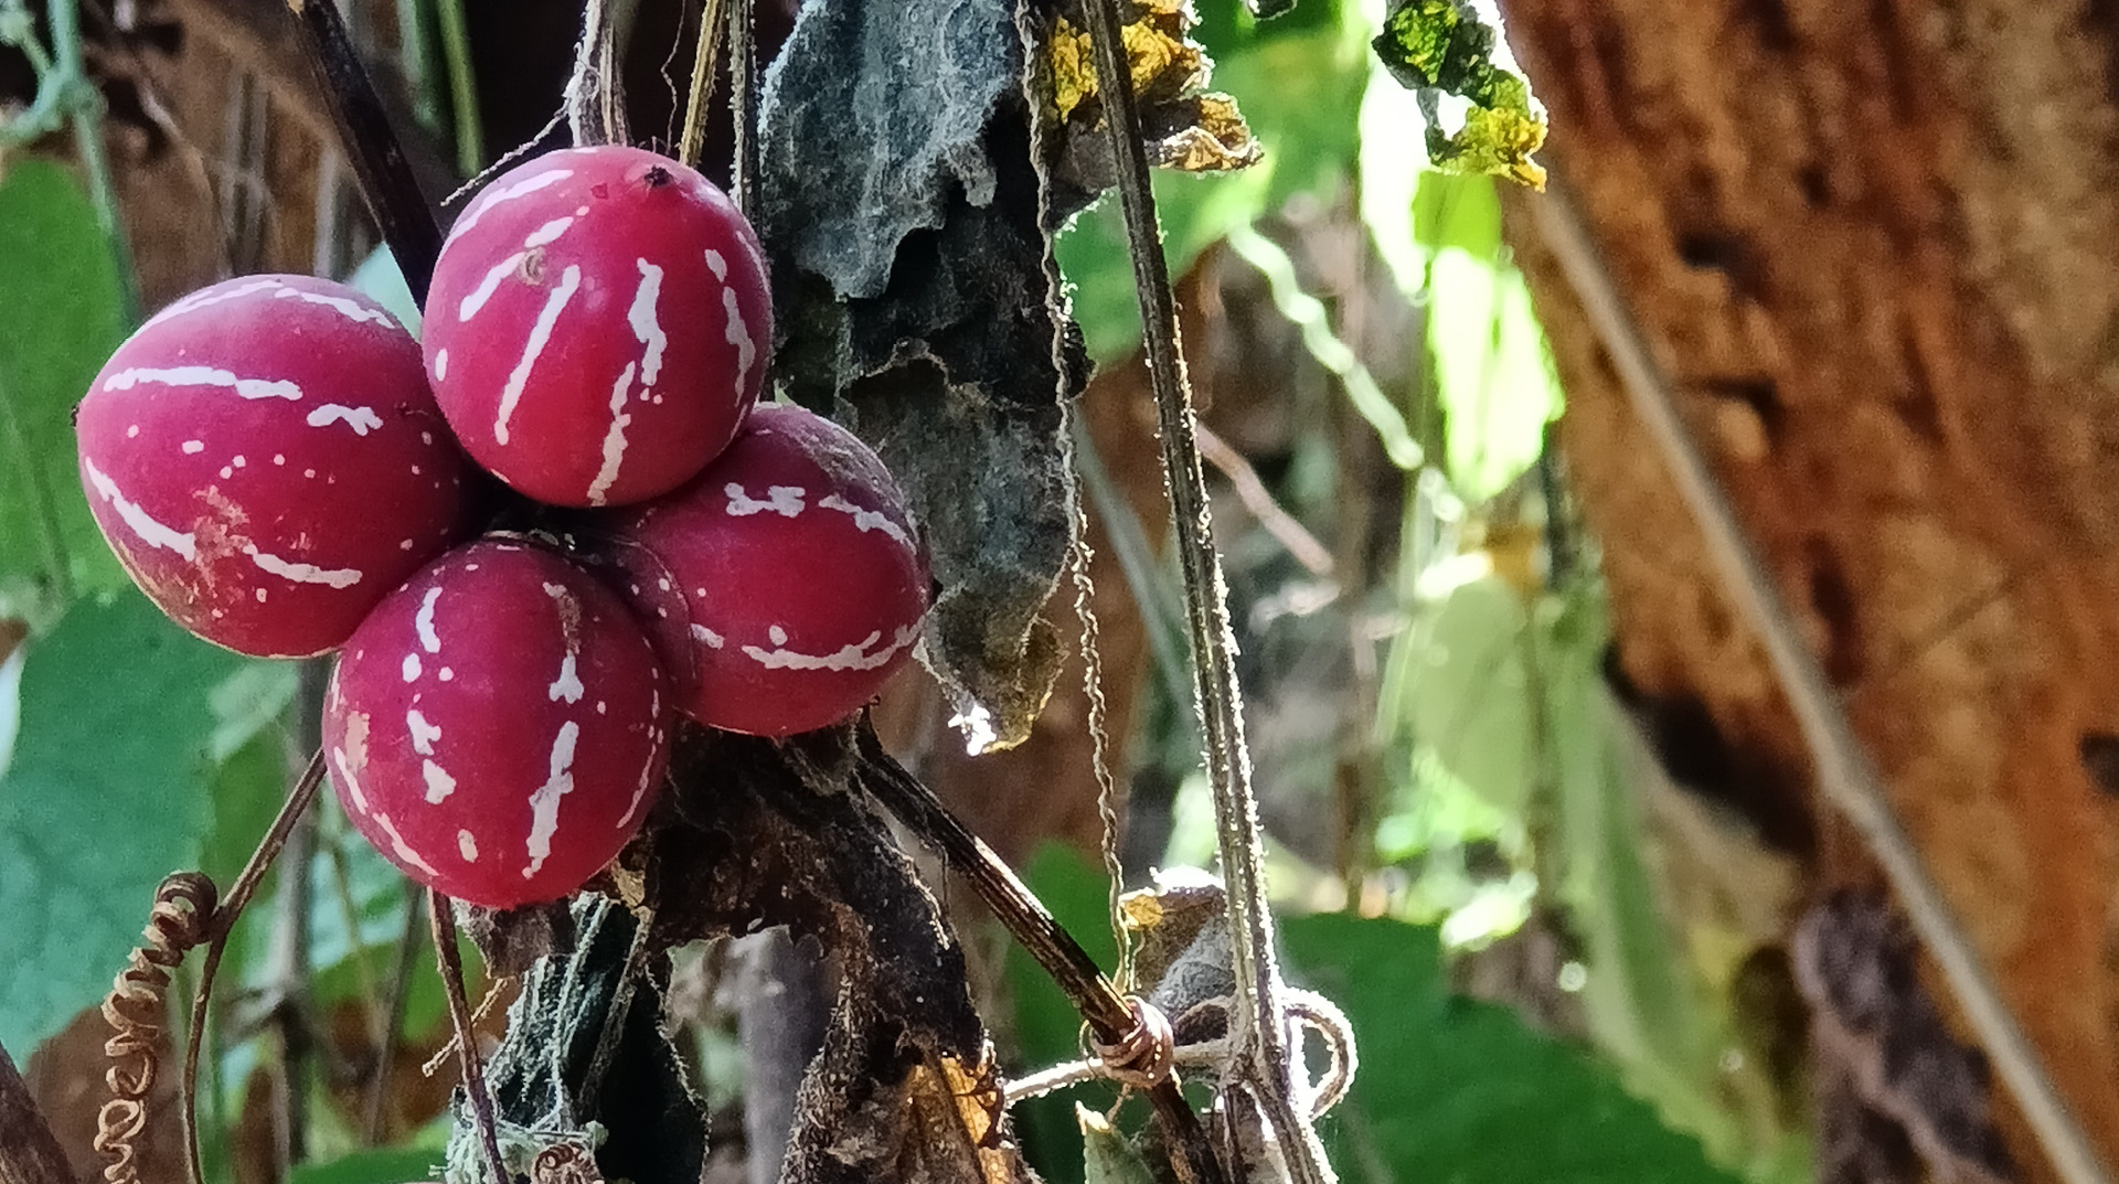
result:
<svg viewBox="0 0 2119 1184"><path fill-rule="evenodd" d="M903 491L852 432L801 407L759 407L697 481L615 534L678 710L704 724L837 722L920 640L928 566Z"/></svg>

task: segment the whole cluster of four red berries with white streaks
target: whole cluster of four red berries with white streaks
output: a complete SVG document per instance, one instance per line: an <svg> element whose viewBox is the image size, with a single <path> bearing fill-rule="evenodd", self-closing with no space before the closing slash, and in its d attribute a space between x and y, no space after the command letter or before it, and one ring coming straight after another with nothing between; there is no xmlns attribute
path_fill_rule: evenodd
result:
<svg viewBox="0 0 2119 1184"><path fill-rule="evenodd" d="M858 710L911 652L928 572L873 451L756 407L765 261L693 169L602 146L504 174L426 311L417 343L299 275L176 301L83 398L81 479L184 629L343 650L324 754L354 826L506 909L617 856L672 712L788 735ZM475 538L481 470L593 542Z"/></svg>

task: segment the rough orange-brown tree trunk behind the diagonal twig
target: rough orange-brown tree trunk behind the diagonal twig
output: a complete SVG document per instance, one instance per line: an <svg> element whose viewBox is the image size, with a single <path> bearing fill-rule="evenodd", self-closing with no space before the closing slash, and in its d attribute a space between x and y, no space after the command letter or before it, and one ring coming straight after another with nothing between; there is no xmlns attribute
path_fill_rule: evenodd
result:
<svg viewBox="0 0 2119 1184"><path fill-rule="evenodd" d="M2119 733L2119 6L1507 15L1553 112L1549 161L1935 875L2119 1163L2119 779L2098 777ZM1515 229L1623 674L1778 769L1759 813L1822 811L1653 443ZM1869 879L1852 832L1818 815L1816 835L1822 881Z"/></svg>

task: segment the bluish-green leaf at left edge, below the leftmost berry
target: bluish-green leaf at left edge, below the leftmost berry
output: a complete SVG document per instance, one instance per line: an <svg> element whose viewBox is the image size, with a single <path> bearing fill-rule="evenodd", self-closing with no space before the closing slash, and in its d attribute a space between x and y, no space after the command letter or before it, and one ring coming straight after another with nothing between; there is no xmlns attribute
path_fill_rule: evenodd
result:
<svg viewBox="0 0 2119 1184"><path fill-rule="evenodd" d="M246 663L138 593L81 602L30 642L0 777L0 1044L34 1048L102 998L155 885L199 862L210 695Z"/></svg>

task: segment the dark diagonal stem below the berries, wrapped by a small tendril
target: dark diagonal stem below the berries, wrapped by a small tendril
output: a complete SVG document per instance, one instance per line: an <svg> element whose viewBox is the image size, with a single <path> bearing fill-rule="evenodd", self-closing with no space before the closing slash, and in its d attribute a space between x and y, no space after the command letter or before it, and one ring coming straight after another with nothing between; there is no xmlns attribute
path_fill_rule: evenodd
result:
<svg viewBox="0 0 2119 1184"><path fill-rule="evenodd" d="M1134 1010L1119 989L1110 985L1110 979L1098 970L1089 951L1053 919L1045 902L1017 879L992 847L949 813L949 807L934 796L934 790L926 788L884 750L867 718L860 722L860 782L869 792L907 830L918 835L922 843L971 881L987 909L1000 917L1000 923L1045 968L1053 983L1066 991L1074 1010L1089 1021L1100 1040L1123 1040L1136 1023ZM1206 1129L1199 1125L1199 1116L1193 1114L1191 1104L1185 1101L1185 1091L1176 1076L1172 1074L1151 1089L1148 1101L1155 1106L1155 1118L1163 1125L1163 1137L1174 1148L1172 1163L1178 1169L1178 1178L1187 1184L1223 1184L1221 1161L1214 1159Z"/></svg>

